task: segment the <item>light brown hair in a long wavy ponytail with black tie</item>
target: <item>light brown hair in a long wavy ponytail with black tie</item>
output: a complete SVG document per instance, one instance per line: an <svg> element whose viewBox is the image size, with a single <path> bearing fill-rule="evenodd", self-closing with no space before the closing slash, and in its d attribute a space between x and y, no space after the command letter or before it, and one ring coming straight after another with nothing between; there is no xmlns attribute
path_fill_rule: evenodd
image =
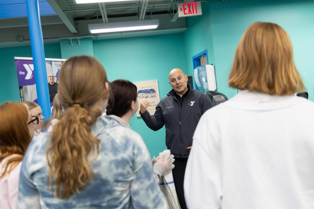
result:
<svg viewBox="0 0 314 209"><path fill-rule="evenodd" d="M59 74L59 97L66 111L52 128L46 157L50 188L54 179L54 195L69 198L94 177L87 156L90 153L98 156L99 139L91 134L90 127L102 112L93 105L107 98L109 91L106 71L93 57L71 57Z"/></svg>

